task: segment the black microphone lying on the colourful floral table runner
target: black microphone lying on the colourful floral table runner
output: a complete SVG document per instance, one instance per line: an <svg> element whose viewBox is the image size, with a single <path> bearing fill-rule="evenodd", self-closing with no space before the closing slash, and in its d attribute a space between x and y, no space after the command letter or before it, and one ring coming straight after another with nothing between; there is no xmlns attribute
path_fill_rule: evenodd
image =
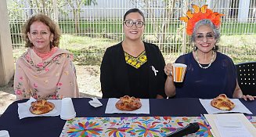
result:
<svg viewBox="0 0 256 137"><path fill-rule="evenodd" d="M184 135L188 135L194 132L197 132L199 129L199 125L197 122L190 123L184 128L178 128L175 132L171 132L168 135L165 135L164 137L182 137Z"/></svg>

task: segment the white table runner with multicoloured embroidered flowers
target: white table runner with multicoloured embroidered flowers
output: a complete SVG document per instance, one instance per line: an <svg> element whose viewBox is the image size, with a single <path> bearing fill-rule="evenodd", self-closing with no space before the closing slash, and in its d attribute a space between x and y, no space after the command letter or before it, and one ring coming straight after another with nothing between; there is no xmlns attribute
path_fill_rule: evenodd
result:
<svg viewBox="0 0 256 137"><path fill-rule="evenodd" d="M256 127L256 117L247 117ZM60 137L159 137L198 122L198 132L188 136L211 136L201 117L75 117L67 121Z"/></svg>

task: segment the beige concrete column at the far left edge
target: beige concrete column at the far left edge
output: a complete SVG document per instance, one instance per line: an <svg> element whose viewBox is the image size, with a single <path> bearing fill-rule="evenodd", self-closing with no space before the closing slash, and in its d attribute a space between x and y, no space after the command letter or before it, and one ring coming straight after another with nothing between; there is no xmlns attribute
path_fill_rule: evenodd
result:
<svg viewBox="0 0 256 137"><path fill-rule="evenodd" d="M0 86L13 78L13 47L9 29L9 16L6 0L0 1Z"/></svg>

